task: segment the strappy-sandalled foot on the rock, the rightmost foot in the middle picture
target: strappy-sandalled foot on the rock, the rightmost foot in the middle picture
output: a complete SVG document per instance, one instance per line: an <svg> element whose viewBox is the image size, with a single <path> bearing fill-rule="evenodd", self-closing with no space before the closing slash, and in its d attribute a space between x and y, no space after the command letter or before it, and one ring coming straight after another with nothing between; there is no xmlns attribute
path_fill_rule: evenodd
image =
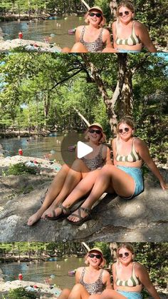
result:
<svg viewBox="0 0 168 299"><path fill-rule="evenodd" d="M67 220L68 223L80 225L85 221L88 221L90 218L90 209L81 206L80 208L78 208L78 210L75 211L75 213L72 213L70 216L68 216Z"/></svg>

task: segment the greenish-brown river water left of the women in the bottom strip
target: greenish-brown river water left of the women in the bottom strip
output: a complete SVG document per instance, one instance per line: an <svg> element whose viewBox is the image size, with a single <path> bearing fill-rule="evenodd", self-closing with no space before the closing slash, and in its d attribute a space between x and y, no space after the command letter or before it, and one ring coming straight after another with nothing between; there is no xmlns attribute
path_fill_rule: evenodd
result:
<svg viewBox="0 0 168 299"><path fill-rule="evenodd" d="M58 258L54 262L1 264L0 268L5 281L18 279L21 272L23 280L44 283L46 278L49 278L51 285L56 284L62 289L72 288L75 283L75 276L69 276L68 271L84 265L83 258L71 257L65 260Z"/></svg>

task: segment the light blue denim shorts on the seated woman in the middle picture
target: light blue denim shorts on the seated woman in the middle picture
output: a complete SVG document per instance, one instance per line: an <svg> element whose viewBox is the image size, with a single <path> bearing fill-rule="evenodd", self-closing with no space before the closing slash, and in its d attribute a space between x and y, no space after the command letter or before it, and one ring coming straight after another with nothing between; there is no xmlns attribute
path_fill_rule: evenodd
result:
<svg viewBox="0 0 168 299"><path fill-rule="evenodd" d="M125 173L130 174L135 181L135 191L132 196L127 197L126 199L130 199L132 197L138 196L140 193L144 191L144 181L142 177L142 170L138 167L125 167L117 165L117 168L125 171Z"/></svg>

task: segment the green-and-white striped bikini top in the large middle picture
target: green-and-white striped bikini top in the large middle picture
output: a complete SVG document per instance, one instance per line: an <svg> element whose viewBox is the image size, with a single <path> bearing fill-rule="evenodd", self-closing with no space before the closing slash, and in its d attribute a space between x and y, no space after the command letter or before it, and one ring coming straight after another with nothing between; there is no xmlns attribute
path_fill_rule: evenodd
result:
<svg viewBox="0 0 168 299"><path fill-rule="evenodd" d="M115 148L116 148L116 155L115 160L121 161L121 162L136 162L142 160L139 153L135 151L135 145L134 145L135 138L132 138L132 149L129 155L127 156L121 156L119 153L117 153L117 139L115 141Z"/></svg>

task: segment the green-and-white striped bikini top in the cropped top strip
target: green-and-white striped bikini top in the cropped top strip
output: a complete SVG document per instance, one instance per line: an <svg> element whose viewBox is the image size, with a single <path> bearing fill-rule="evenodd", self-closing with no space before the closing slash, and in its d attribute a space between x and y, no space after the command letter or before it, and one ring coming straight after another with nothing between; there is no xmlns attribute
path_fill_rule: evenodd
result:
<svg viewBox="0 0 168 299"><path fill-rule="evenodd" d="M119 22L116 21L116 25L115 25L115 33L116 33L116 39L115 39L115 44L117 45L127 45L127 46L135 46L137 44L141 44L142 41L140 41L140 38L138 36L136 36L135 34L135 21L132 22L132 33L129 36L128 39L120 39L117 36L117 29L118 29L118 24Z"/></svg>

